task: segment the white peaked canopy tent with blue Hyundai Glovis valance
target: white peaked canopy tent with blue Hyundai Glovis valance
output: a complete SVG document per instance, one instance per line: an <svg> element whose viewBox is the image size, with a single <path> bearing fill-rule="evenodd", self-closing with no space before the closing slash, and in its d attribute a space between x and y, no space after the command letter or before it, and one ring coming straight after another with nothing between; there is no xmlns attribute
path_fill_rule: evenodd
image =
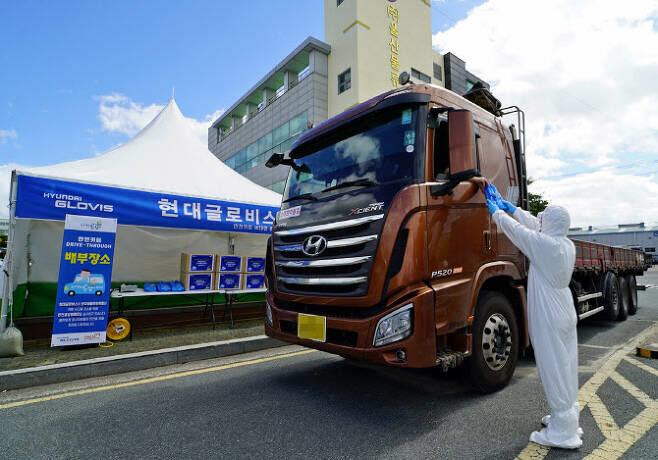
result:
<svg viewBox="0 0 658 460"><path fill-rule="evenodd" d="M114 288L178 279L182 252L264 255L281 200L212 155L173 99L102 155L14 171L10 196L3 313L12 305L14 319L54 312L66 214L118 219ZM189 303L155 297L139 308Z"/></svg>

